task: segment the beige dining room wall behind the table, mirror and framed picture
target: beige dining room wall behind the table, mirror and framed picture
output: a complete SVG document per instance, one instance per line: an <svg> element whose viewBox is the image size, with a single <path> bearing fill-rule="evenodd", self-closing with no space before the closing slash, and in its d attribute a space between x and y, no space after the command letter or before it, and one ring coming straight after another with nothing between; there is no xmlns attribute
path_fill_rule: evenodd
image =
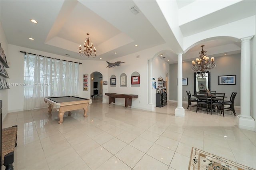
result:
<svg viewBox="0 0 256 170"><path fill-rule="evenodd" d="M196 57L196 56L195 56ZM218 93L226 93L229 99L233 91L238 92L235 98L235 105L240 106L240 53L233 55L226 55L222 57L215 57L216 67L210 70L211 73L211 91ZM188 77L188 85L182 86L182 99L188 101L186 91L194 93L194 72L191 69L191 61L182 63L183 77ZM236 75L236 85L218 85L219 75ZM170 100L177 100L177 64L170 65Z"/></svg>

